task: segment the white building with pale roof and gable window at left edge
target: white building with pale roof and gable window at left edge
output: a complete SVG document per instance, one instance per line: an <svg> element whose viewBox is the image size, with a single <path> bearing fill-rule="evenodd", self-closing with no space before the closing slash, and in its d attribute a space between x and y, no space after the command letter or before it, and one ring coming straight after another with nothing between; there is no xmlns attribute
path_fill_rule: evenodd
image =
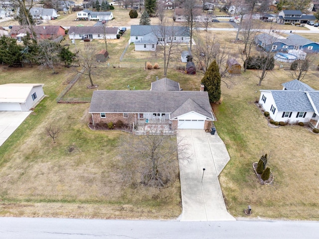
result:
<svg viewBox="0 0 319 239"><path fill-rule="evenodd" d="M44 97L44 84L0 85L0 111L29 111Z"/></svg>

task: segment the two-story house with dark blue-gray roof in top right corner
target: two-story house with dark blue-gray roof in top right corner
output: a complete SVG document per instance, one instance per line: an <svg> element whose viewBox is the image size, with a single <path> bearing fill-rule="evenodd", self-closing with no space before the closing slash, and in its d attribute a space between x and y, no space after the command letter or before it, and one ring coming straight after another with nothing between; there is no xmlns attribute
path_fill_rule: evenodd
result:
<svg viewBox="0 0 319 239"><path fill-rule="evenodd" d="M306 15L301 10L281 10L278 12L277 23L307 23L316 20L314 15Z"/></svg>

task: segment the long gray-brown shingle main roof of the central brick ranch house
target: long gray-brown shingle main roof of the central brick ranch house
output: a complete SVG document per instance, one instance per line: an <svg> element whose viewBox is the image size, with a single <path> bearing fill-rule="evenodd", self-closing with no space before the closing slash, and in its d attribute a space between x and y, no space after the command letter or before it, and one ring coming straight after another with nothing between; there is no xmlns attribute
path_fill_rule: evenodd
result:
<svg viewBox="0 0 319 239"><path fill-rule="evenodd" d="M188 99L198 106L194 103L188 106L185 103ZM92 95L89 112L172 113L176 110L176 117L177 112L184 114L189 109L213 119L206 91L96 90Z"/></svg>

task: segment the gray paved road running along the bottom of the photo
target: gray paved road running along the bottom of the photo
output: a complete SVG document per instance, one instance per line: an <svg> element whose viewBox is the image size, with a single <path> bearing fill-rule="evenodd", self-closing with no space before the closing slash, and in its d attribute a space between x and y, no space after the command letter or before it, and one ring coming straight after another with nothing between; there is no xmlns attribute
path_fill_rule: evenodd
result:
<svg viewBox="0 0 319 239"><path fill-rule="evenodd" d="M318 222L0 218L0 239L317 239Z"/></svg>

